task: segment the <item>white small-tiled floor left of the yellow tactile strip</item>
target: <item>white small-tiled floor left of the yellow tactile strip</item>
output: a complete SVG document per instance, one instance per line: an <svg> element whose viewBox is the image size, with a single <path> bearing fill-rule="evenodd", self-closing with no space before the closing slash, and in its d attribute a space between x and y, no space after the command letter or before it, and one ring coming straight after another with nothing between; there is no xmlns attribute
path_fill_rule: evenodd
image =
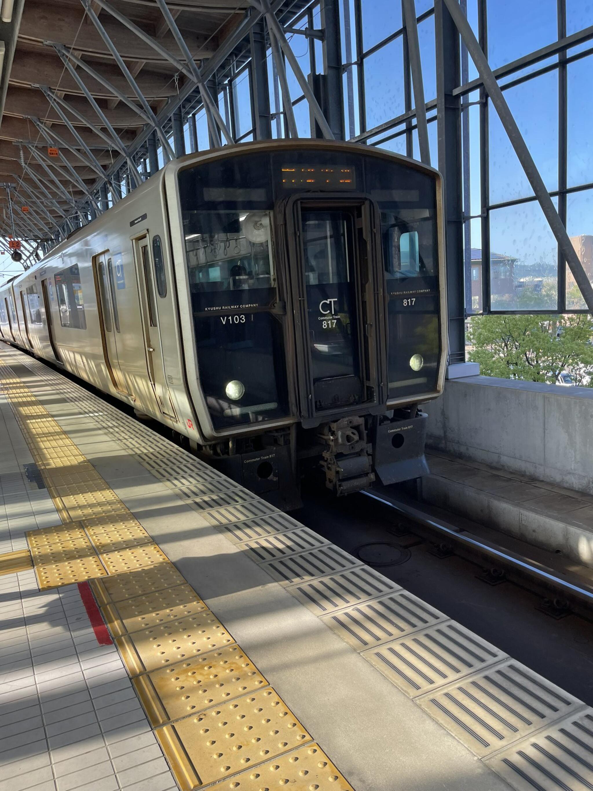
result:
<svg viewBox="0 0 593 791"><path fill-rule="evenodd" d="M40 487L41 484L41 487ZM0 553L59 524L13 411L0 401ZM0 791L168 791L177 785L115 645L77 585L0 577Z"/></svg>

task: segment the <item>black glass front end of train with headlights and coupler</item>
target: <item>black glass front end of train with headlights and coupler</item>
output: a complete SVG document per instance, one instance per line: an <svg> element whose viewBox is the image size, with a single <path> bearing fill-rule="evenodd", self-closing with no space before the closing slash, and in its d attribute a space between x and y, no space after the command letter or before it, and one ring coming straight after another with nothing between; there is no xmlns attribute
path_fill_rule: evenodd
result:
<svg viewBox="0 0 593 791"><path fill-rule="evenodd" d="M296 456L338 494L423 474L417 404L444 377L438 173L298 141L182 161L178 184L213 460L259 494Z"/></svg>

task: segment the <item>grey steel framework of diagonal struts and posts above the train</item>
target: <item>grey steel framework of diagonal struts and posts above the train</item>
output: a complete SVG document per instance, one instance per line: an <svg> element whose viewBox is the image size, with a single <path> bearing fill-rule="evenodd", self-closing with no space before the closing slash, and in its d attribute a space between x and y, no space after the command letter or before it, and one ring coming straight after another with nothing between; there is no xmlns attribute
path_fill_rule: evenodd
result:
<svg viewBox="0 0 593 791"><path fill-rule="evenodd" d="M28 202L32 206L32 210L35 206L35 214L29 214L26 220L19 218L19 223L24 230L26 228L29 233L32 233L33 229L36 229L46 233L47 237L51 237L52 234L55 235L55 229L61 226L58 234L60 237L77 225L79 221L85 221L85 217L89 214L91 216L100 214L108 206L108 193L111 195L111 201L116 202L119 199L119 184L122 180L126 180L129 187L134 188L142 184L145 178L158 169L159 146L164 161L185 152L185 123L189 124L190 149L197 150L200 142L201 147L205 147L205 141L198 141L197 112L203 111L206 117L210 145L220 146L238 142L250 134L256 139L263 139L272 137L274 131L275 136L279 137L282 134L281 116L284 116L285 119L285 134L297 137L299 130L293 107L300 101L305 101L310 109L313 134L328 139L349 138L368 145L380 145L394 138L403 138L408 156L414 152L414 135L417 134L420 158L426 164L430 164L431 161L429 129L435 128L429 127L429 124L435 123L438 138L438 166L444 174L445 182L446 244L450 262L448 293L451 351L452 359L459 361L464 356L463 322L466 317L468 295L471 294L470 287L468 289L467 286L470 276L468 248L470 247L469 222L471 219L468 198L468 118L470 106L478 104L482 142L482 210L481 214L476 216L479 216L482 222L483 304L487 312L489 310L489 211L499 207L491 206L489 203L488 123L489 106L493 105L500 115L504 129L534 193L534 197L512 201L508 205L537 200L557 239L559 251L557 311L565 311L565 261L568 263L581 293L583 293L587 309L593 311L591 283L588 281L584 267L572 248L572 244L570 244L565 229L566 195L572 190L572 187L567 189L565 155L561 157L558 190L551 193L551 195L558 195L558 210L556 210L515 119L508 109L508 104L504 100L504 89L531 79L537 74L545 74L547 71L557 69L560 85L560 147L564 146L565 148L566 64L572 59L584 57L584 55L593 52L592 45L591 49L587 51L581 51L575 55L567 54L570 47L593 41L593 26L566 36L565 0L558 0L558 40L532 52L531 55L516 59L496 70L491 70L487 60L485 20L486 2L493 2L493 0L478 0L478 40L466 21L466 0L435 0L434 8L425 11L420 16L417 16L414 0L401 0L402 27L391 32L384 40L373 44L366 51L363 47L361 0L353 0L353 19L350 18L349 0L316 0L319 3L321 19L319 29L315 28L312 13L315 0L309 3L304 0L303 2L299 2L299 0L290 0L290 2L289 0L274 0L274 2L271 0L249 0L249 2L250 8L244 13L240 25L228 36L221 47L209 59L196 63L166 0L156 0L156 3L161 10L164 25L170 30L176 42L179 49L178 54L172 53L159 40L138 28L138 25L135 25L112 6L109 0L94 0L94 2L81 0L89 20L93 22L105 46L130 85L134 98L130 100L125 93L111 85L110 81L88 63L85 63L69 47L56 42L45 42L48 47L53 47L58 53L70 77L76 82L93 109L97 123L89 121L86 115L74 108L62 95L41 85L39 86L40 90L51 102L51 106L58 113L62 123L70 131L74 143L66 142L56 131L55 124L51 126L43 123L40 119L32 119L32 122L47 145L70 150L70 153L77 157L77 161L81 165L91 168L96 173L97 178L92 187L87 187L71 161L66 160L62 151L60 151L60 161L57 167L55 161L48 160L43 150L30 141L18 142L18 145L25 149L28 155L28 166L24 171L25 178L21 180L18 190L22 190L24 194L28 195ZM395 0L395 2L399 2L399 0ZM289 9L295 5L296 9L291 13ZM99 9L114 17L178 71L179 78L181 78L178 95L171 97L160 112L154 112L148 101L142 96L138 83L119 56L98 17ZM340 13L342 13L342 25L340 24ZM437 95L436 98L429 97L427 102L425 100L425 82L422 78L418 25L430 18L434 19L436 33ZM304 26L305 21L306 26ZM342 63L342 47L339 41L341 28L346 36L344 42L345 63ZM350 36L351 29L356 33L354 55ZM288 36L305 36L311 42L311 74L309 76L306 76L301 69L289 44L287 34ZM403 42L405 111L387 122L368 129L365 120L365 61L381 47L399 37ZM323 70L319 69L315 63L314 42L315 47L319 47L319 43L323 47ZM271 85L266 68L266 58L269 53L272 59L273 79ZM468 81L467 73L468 53L478 70L478 78L471 81ZM546 61L553 55L559 55L559 62L545 63L540 70L522 74L515 81L507 82L502 88L498 85L500 78L508 78L512 74L526 69L527 66ZM301 97L296 100L293 100L289 93L287 70L292 72L302 91ZM321 79L326 81L323 85L324 90L320 90L319 83L315 82L319 71L323 71ZM140 117L144 127L134 142L126 144L119 137L113 124L109 121L108 114L100 108L90 92L82 76L83 73L99 81L111 96L126 104L127 108ZM236 115L234 86L238 75L241 74L248 75L251 86L252 130L244 131L242 129L240 134L236 122L238 116ZM342 75L344 74L346 78L342 86ZM356 108L354 91L356 78L358 80L358 108ZM470 101L470 94L473 92L480 93L478 103ZM218 106L219 93L222 93L224 108ZM275 112L270 112L270 96L275 99ZM346 134L345 131L345 99L349 134ZM361 122L360 131L356 126L356 113ZM81 124L98 140L104 142L108 149L113 149L118 154L110 167L104 168L100 165L98 158L93 153L93 146L89 146L77 131L77 127L80 128ZM171 140L173 140L174 146L171 145ZM435 156L435 153L433 150L432 157ZM35 164L35 169L32 168L32 163ZM23 164L25 164L24 161ZM58 179L57 170L59 170L62 180ZM82 198L74 199L72 194L68 193L67 187L63 184L64 176L72 187L82 191ZM464 188L463 184L465 184ZM586 186L584 185L584 187ZM507 204L500 204L500 206L503 205ZM55 214L59 215L59 220L55 219ZM462 265L464 256L465 267ZM455 262L455 264L451 265L451 262Z"/></svg>

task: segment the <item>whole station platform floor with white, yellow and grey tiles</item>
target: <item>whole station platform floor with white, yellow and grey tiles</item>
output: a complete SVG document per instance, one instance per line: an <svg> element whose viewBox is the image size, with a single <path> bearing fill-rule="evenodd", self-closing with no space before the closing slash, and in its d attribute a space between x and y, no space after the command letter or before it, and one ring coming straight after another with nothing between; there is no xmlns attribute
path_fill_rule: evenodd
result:
<svg viewBox="0 0 593 791"><path fill-rule="evenodd" d="M0 791L593 789L583 702L4 344L0 486Z"/></svg>

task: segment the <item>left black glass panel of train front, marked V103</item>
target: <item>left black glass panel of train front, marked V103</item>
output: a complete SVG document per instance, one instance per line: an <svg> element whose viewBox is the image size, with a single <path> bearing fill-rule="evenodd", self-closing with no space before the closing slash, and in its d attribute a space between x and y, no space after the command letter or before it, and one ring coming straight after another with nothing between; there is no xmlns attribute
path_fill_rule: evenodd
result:
<svg viewBox="0 0 593 791"><path fill-rule="evenodd" d="M257 190L221 201L224 183L214 175L203 209L192 200L183 218L200 385L215 428L289 413L271 206Z"/></svg>

